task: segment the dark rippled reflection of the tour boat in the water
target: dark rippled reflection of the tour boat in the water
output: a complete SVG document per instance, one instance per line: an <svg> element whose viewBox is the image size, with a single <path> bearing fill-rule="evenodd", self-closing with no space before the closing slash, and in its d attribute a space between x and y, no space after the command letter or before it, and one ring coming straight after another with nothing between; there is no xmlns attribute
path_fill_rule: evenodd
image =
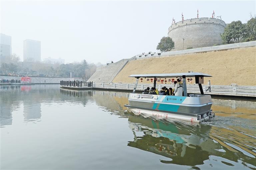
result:
<svg viewBox="0 0 256 170"><path fill-rule="evenodd" d="M232 148L234 145L232 146L231 141L225 142L224 137L227 138L227 134L213 137L214 131L218 128L213 129L214 127L207 124L166 122L136 115L130 115L128 123L134 134L134 140L129 141L128 146L171 158L171 160L160 160L162 163L196 166L205 164L204 161L210 160L211 155L214 155L226 158L225 161L221 161L226 165L234 166L232 161L236 163L243 157L244 162L251 164L247 164L248 167L255 167L253 147L248 147L253 145L253 139L248 139L249 136L248 138L246 135L242 136L240 142L249 140L247 143L249 142L250 145L247 145L247 148L240 146L242 150L236 147L238 149L236 150ZM239 143L235 144L239 145Z"/></svg>

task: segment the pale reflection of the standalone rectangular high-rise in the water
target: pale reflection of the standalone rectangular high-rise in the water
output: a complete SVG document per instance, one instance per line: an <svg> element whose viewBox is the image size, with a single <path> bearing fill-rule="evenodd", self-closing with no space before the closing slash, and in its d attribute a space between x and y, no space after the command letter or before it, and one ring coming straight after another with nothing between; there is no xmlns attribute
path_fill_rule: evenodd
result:
<svg viewBox="0 0 256 170"><path fill-rule="evenodd" d="M24 120L40 119L41 118L41 103L40 102L24 102L23 103Z"/></svg>

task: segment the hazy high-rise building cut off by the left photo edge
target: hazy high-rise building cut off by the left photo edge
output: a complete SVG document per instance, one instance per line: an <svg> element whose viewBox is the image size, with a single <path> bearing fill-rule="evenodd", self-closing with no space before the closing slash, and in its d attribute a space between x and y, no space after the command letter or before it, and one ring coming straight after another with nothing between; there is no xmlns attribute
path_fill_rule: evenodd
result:
<svg viewBox="0 0 256 170"><path fill-rule="evenodd" d="M0 59L6 62L12 55L12 37L0 33Z"/></svg>

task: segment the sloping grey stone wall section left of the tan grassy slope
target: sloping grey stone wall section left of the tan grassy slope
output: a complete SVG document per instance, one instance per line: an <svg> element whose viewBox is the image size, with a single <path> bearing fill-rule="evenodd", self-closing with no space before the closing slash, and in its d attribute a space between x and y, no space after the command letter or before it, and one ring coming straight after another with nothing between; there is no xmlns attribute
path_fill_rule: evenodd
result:
<svg viewBox="0 0 256 170"><path fill-rule="evenodd" d="M110 63L107 66L97 68L96 72L87 82L93 83L110 83L115 76L122 70L129 59L122 59L116 63Z"/></svg>

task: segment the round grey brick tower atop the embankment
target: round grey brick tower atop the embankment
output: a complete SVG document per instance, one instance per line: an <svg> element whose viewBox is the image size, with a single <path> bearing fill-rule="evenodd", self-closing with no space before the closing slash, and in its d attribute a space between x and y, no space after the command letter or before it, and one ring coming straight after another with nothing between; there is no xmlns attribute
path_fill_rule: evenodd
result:
<svg viewBox="0 0 256 170"><path fill-rule="evenodd" d="M222 44L220 34L224 32L226 23L216 18L193 18L179 21L168 29L168 37L175 43L174 50L209 47Z"/></svg>

